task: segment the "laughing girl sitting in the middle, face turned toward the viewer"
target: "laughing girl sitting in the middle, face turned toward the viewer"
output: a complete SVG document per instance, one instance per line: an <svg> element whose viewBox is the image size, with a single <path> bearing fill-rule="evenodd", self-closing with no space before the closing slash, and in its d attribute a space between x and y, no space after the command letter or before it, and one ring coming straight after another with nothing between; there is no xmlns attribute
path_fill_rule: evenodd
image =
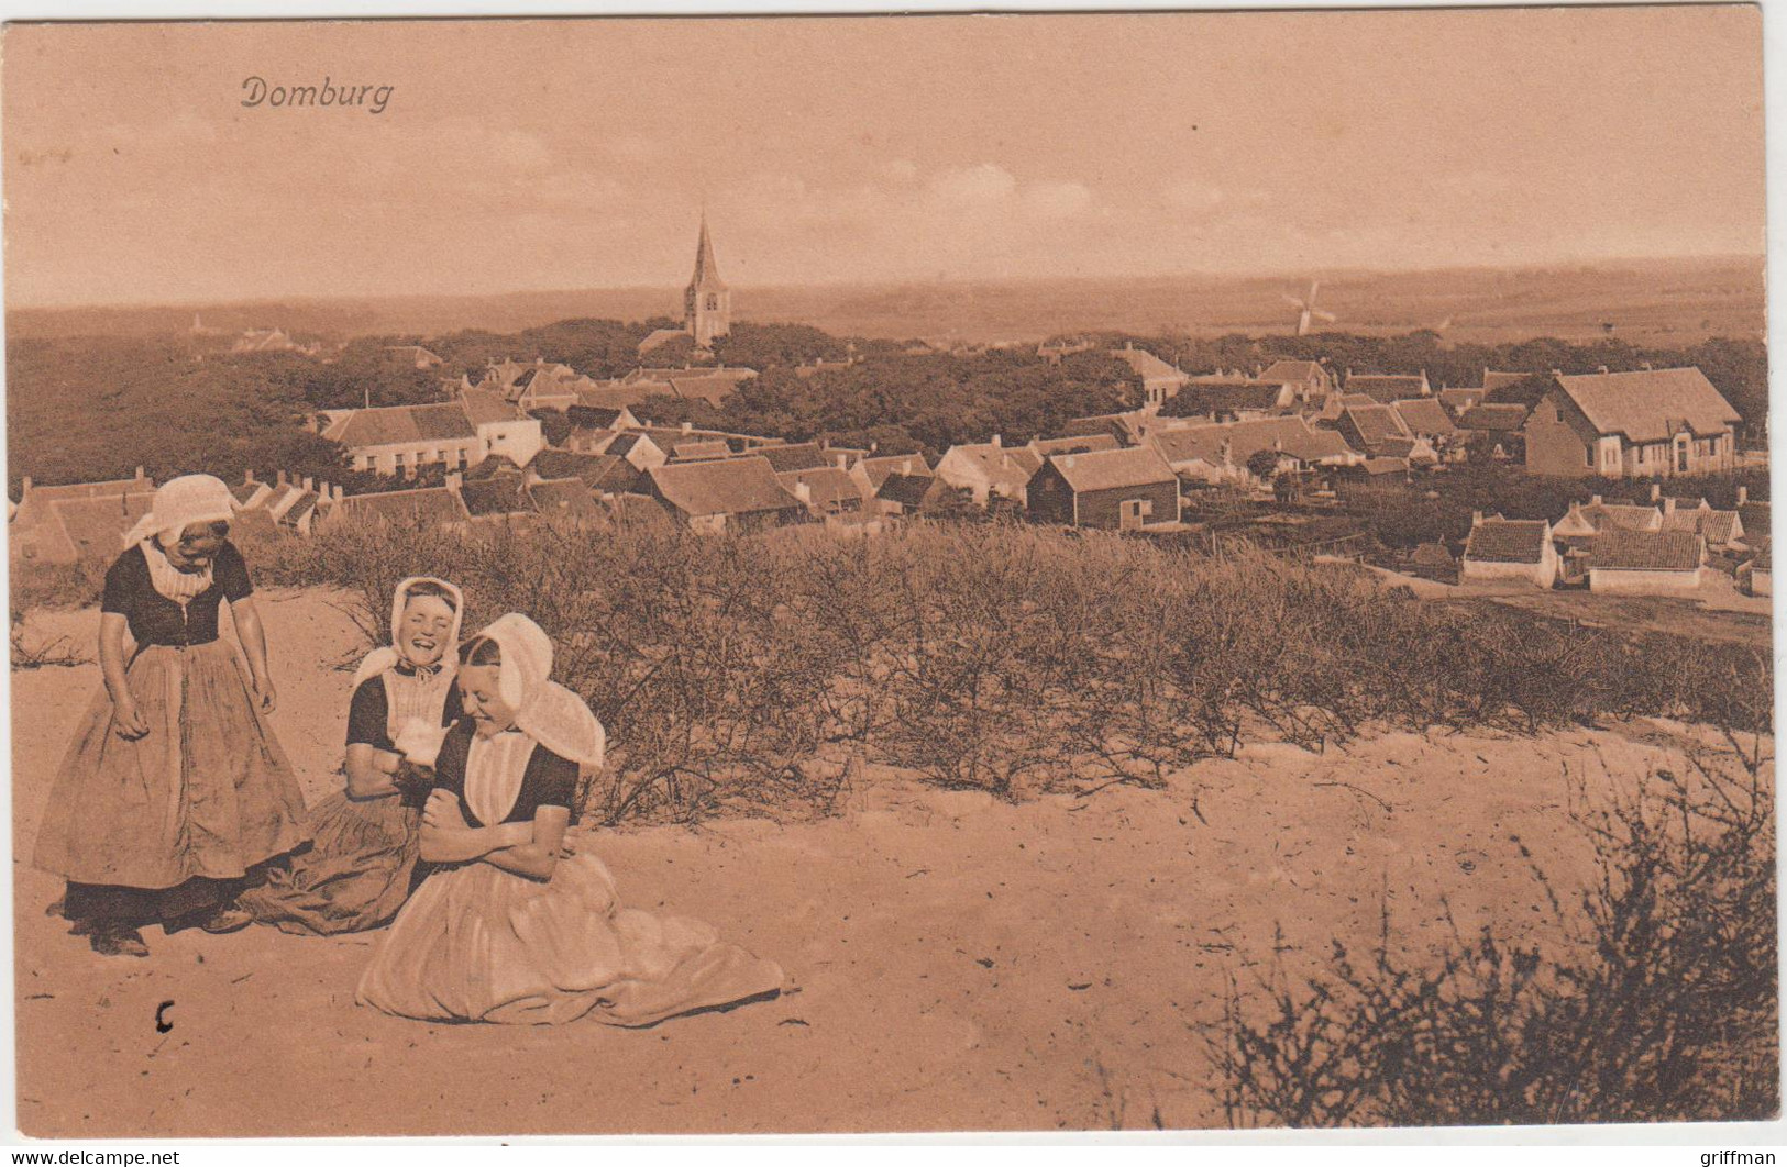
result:
<svg viewBox="0 0 1787 1167"><path fill-rule="evenodd" d="M354 675L347 789L311 808L311 849L238 899L257 923L336 935L381 928L404 906L422 803L434 780L427 767L463 705L445 664L457 653L463 610L459 589L447 580L416 576L397 585L391 644L370 651Z"/></svg>

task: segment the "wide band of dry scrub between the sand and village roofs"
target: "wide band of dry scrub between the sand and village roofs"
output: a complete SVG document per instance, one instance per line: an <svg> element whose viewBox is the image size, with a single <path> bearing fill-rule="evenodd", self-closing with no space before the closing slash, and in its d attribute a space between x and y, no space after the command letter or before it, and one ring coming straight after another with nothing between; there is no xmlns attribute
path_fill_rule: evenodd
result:
<svg viewBox="0 0 1787 1167"><path fill-rule="evenodd" d="M1369 724L1771 724L1762 701L1728 708L1732 687L1769 691L1758 653L1431 605L1246 544L1215 560L1010 523L697 537L559 521L289 542L279 578L343 587L368 641L418 573L465 589L468 628L536 619L609 730L590 807L606 819L824 812L861 762L1020 798L1154 785L1244 741L1319 749Z"/></svg>

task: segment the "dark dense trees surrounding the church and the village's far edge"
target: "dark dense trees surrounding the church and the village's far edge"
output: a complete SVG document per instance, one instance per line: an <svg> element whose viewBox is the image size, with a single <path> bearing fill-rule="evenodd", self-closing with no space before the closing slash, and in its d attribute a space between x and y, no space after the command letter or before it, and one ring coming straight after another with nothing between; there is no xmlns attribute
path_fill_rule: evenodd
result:
<svg viewBox="0 0 1787 1167"><path fill-rule="evenodd" d="M184 337L16 339L7 350L7 423L13 482L77 482L129 475L138 464L157 476L184 469L243 469L329 476L354 484L338 451L302 428L320 409L443 400L443 382L474 380L495 360L563 362L595 378L638 368L638 343L668 319L622 323L566 319L516 334L454 332L434 339L361 337L331 360L298 353L200 353ZM1699 366L1746 418L1755 439L1767 418L1767 352L1758 341L1712 339L1685 350L1640 350L1624 341L1567 344L1540 337L1519 344L1440 344L1435 332L1399 337L1322 334L1312 337L1185 335L1094 337L1097 348L1049 364L1029 348L942 353L899 341L831 337L806 325L734 325L715 357L759 377L720 405L649 398L634 412L652 421L792 441L831 439L931 455L992 434L1008 443L1060 434L1079 416L1138 401L1138 384L1110 346L1135 341L1188 371L1253 371L1278 357L1326 360L1335 373L1417 373L1439 385L1481 384L1485 368L1528 371ZM400 344L422 343L445 360L415 368ZM672 364L667 346L650 364ZM813 360L851 364L801 369ZM804 375L802 375L804 373ZM1537 382L1498 398L1526 400ZM550 435L563 426L545 419ZM352 489L352 487L350 487Z"/></svg>

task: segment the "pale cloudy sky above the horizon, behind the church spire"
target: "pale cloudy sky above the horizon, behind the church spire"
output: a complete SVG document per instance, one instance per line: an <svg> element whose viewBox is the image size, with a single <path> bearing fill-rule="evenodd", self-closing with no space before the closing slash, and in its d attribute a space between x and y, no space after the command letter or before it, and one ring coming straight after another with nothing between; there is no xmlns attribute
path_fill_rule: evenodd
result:
<svg viewBox="0 0 1787 1167"><path fill-rule="evenodd" d="M243 80L391 86L243 107ZM1760 255L1753 7L14 25L7 302Z"/></svg>

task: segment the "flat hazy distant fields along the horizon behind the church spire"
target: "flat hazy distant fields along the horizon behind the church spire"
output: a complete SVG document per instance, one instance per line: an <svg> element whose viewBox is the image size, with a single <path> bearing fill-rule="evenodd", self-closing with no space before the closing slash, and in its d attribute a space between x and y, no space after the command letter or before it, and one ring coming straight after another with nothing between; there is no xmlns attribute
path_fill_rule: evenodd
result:
<svg viewBox="0 0 1787 1167"><path fill-rule="evenodd" d="M1760 337L1762 261L1680 259L1574 268L1406 273L1285 273L1278 277L1154 277L924 286L749 287L738 319L799 319L835 335L927 337L969 343L1033 343L1060 332L1163 330L1212 337L1288 332L1303 294L1321 277L1319 305L1333 328L1396 335L1437 328L1449 341L1485 344L1553 335L1587 343L1607 335L1648 346L1687 346L1707 337ZM511 332L556 319L647 319L677 312L675 287L634 287L508 296L409 296L379 302L291 302L14 309L14 337L182 334L193 312L214 328L282 325L298 332L436 335L456 328ZM1612 325L1612 330L1607 327Z"/></svg>

